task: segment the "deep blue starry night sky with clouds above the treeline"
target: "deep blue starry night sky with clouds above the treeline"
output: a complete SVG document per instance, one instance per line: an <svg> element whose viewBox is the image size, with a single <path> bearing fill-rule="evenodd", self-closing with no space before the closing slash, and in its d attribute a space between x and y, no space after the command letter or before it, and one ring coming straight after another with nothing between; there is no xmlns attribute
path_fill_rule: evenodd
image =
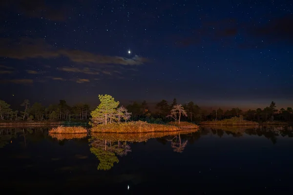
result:
<svg viewBox="0 0 293 195"><path fill-rule="evenodd" d="M0 99L293 106L291 0L1 0ZM128 53L130 51L130 54Z"/></svg>

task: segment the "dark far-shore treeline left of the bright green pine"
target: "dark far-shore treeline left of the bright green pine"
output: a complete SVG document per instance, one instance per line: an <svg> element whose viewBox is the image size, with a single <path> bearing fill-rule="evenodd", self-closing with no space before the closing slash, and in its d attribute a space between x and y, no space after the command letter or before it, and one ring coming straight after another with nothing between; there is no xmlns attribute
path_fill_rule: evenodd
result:
<svg viewBox="0 0 293 195"><path fill-rule="evenodd" d="M0 100L0 120L86 120L90 113L88 104L78 103L71 107L65 100L45 107L39 102L31 104L25 99L21 107L21 111L13 111L8 103Z"/></svg>

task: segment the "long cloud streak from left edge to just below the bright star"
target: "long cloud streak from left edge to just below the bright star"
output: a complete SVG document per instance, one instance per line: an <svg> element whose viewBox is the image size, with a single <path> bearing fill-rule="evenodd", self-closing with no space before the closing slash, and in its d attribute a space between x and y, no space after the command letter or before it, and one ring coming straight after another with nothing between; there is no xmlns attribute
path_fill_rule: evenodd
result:
<svg viewBox="0 0 293 195"><path fill-rule="evenodd" d="M47 44L44 39L21 38L13 41L11 39L2 38L0 39L0 43L0 57L11 59L52 59L63 56L76 63L102 65L141 65L149 61L137 55L127 59L119 56L102 56L81 50L58 50Z"/></svg>

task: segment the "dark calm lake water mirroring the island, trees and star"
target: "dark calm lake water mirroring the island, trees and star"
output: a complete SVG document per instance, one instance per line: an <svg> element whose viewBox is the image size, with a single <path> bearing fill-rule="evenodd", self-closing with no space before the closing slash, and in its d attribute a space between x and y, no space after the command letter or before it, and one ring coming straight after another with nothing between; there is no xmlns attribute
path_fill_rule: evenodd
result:
<svg viewBox="0 0 293 195"><path fill-rule="evenodd" d="M9 194L293 193L290 127L213 126L180 134L91 136L49 135L48 130L0 128L1 190L8 189Z"/></svg>

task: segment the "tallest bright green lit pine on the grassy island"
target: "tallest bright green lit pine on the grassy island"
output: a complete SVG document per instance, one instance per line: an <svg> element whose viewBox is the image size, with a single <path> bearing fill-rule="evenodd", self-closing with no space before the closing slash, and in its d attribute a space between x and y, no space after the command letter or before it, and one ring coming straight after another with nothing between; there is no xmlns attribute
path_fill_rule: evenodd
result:
<svg viewBox="0 0 293 195"><path fill-rule="evenodd" d="M101 103L91 112L91 121L93 124L105 123L107 124L108 116L114 115L119 101L115 101L110 95L99 95Z"/></svg>

